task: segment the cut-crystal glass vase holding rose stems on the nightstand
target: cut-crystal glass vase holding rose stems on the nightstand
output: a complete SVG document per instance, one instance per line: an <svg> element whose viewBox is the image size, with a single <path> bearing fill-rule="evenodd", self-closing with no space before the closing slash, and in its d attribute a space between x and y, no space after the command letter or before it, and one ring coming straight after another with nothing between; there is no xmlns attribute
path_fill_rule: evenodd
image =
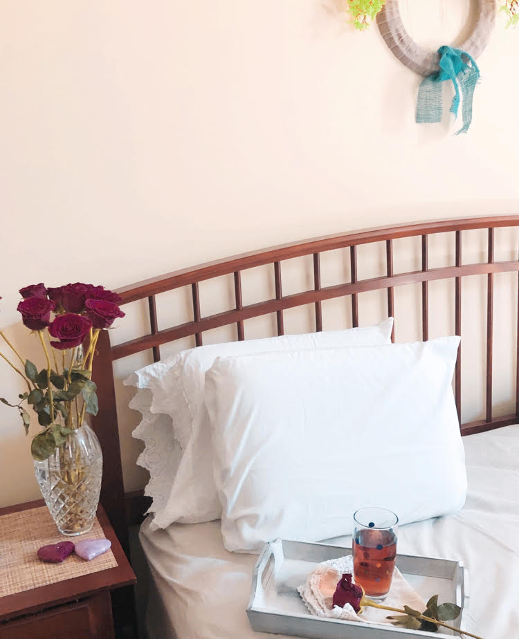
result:
<svg viewBox="0 0 519 639"><path fill-rule="evenodd" d="M63 535L81 535L93 526L102 477L102 452L83 423L45 461L34 461L39 489Z"/></svg>

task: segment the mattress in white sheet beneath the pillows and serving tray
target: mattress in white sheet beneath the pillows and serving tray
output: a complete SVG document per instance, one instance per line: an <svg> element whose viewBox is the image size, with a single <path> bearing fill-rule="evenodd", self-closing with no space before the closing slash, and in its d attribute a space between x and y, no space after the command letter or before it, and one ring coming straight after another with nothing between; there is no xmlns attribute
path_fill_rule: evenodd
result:
<svg viewBox="0 0 519 639"><path fill-rule="evenodd" d="M519 425L465 437L464 445L466 505L457 515L401 526L398 550L461 559L470 591L464 628L484 639L517 639ZM225 550L219 521L154 532L145 521L140 541L152 571L151 638L281 637L251 630L246 606L257 557ZM351 537L332 543L351 547Z"/></svg>

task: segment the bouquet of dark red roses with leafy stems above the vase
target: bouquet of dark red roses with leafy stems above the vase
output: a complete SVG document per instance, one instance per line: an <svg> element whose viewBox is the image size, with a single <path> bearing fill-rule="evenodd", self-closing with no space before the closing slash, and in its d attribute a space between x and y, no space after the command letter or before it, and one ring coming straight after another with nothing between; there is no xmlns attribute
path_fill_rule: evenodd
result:
<svg viewBox="0 0 519 639"><path fill-rule="evenodd" d="M117 293L92 284L76 282L57 288L33 284L21 288L20 295L24 299L18 311L25 326L38 336L46 367L38 371L0 331L20 365L1 351L0 357L27 385L17 404L3 398L0 401L18 409L26 434L30 414L24 404L35 411L42 430L33 437L30 450L34 459L43 461L82 425L85 412L97 414L98 398L91 379L95 346L100 331L125 313L119 308L122 299Z"/></svg>

